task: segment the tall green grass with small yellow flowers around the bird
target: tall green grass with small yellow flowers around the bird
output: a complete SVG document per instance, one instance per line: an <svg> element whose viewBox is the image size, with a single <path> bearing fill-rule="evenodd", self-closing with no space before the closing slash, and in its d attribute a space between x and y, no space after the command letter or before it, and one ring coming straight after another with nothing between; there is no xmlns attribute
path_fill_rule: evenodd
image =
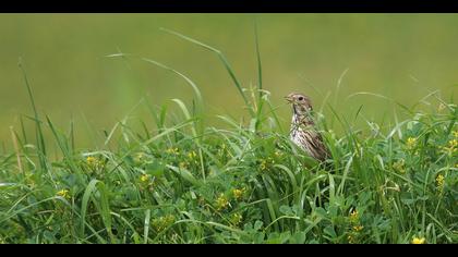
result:
<svg viewBox="0 0 458 257"><path fill-rule="evenodd" d="M217 54L249 120L219 115L227 127L207 125L197 85L140 58L183 78L195 100L173 99L180 113L147 102L154 127L143 122L135 131L126 118L103 147L79 149L73 125L64 132L36 111L23 70L35 140L21 122L11 130L14 151L0 155L1 243L458 242L453 98L431 94L424 101L439 101L438 109L399 105L394 124L361 128L352 123L361 110L348 118L324 102L333 113L317 113L333 154L324 169L291 144L262 88L257 39L258 85L246 89L220 50L167 32ZM397 111L409 119L398 121ZM60 152L51 156L47 144Z"/></svg>

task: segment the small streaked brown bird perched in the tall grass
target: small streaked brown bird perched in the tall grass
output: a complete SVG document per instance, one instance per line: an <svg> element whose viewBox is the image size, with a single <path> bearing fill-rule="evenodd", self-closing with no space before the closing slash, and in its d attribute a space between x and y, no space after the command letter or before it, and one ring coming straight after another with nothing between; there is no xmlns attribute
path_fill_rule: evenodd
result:
<svg viewBox="0 0 458 257"><path fill-rule="evenodd" d="M313 108L310 98L297 93L291 93L285 98L292 105L291 140L320 161L329 158L329 150L313 121Z"/></svg>

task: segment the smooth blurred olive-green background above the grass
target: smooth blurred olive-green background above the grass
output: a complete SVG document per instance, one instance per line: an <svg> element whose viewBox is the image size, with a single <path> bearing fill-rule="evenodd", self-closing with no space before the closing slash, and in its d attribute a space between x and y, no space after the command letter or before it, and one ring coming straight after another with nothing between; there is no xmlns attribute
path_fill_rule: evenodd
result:
<svg viewBox="0 0 458 257"><path fill-rule="evenodd" d="M264 87L275 106L290 91L303 91L320 107L347 69L337 100L348 115L361 105L366 119L393 115L387 100L346 99L355 91L409 106L430 90L441 89L446 99L456 90L457 14L0 14L0 142L11 144L9 127L17 130L19 115L32 114L20 57L40 113L62 128L73 118L80 146L92 140L91 133L110 130L143 97L170 106L171 98L192 99L189 85L165 70L104 58L118 49L190 76L203 91L209 117L246 114L218 58L159 27L222 50L249 87L257 82L255 16ZM289 108L280 107L279 113L287 124ZM144 107L133 119L153 122Z"/></svg>

